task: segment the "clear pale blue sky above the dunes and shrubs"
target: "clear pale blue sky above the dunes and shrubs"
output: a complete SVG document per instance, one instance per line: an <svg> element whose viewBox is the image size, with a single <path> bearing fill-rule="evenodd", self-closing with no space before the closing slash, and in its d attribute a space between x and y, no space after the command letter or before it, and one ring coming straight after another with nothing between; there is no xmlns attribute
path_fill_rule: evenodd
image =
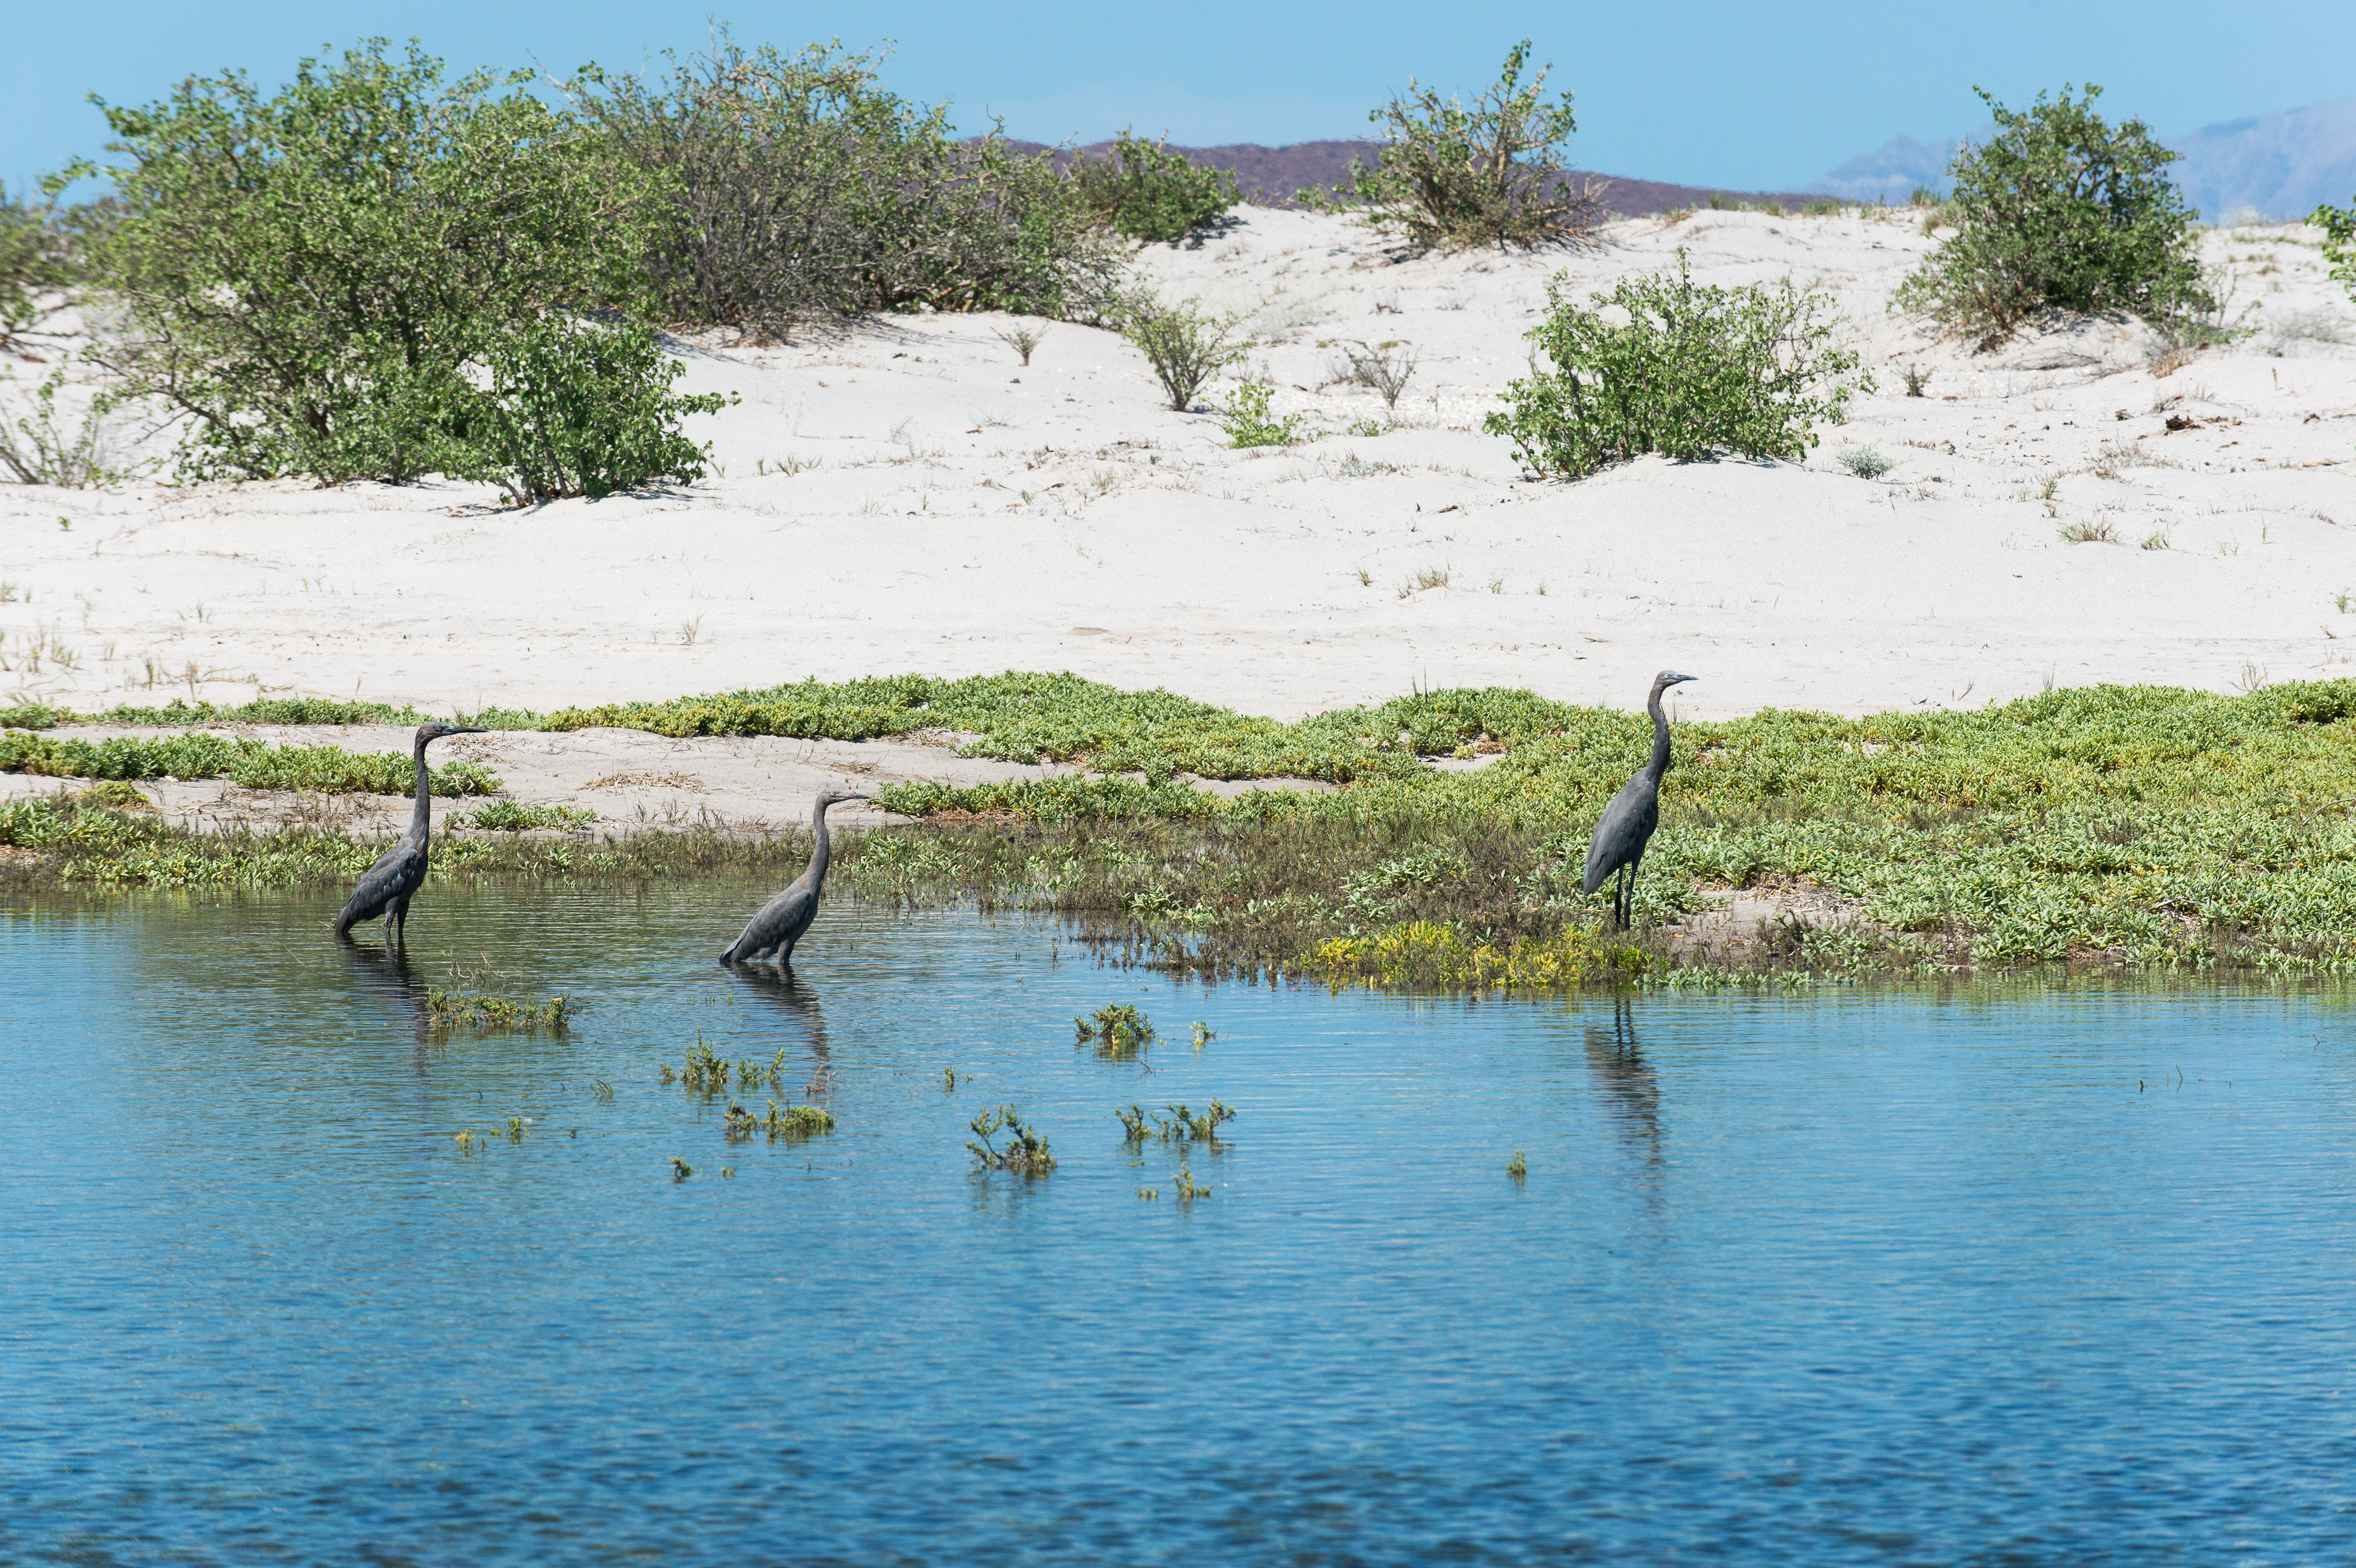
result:
<svg viewBox="0 0 2356 1568"><path fill-rule="evenodd" d="M1590 170L1696 186L1793 188L1892 134L1986 120L1972 82L2026 101L2102 82L2113 115L2160 134L2356 97L2349 0L1673 0L1654 5L660 5L631 0L0 0L9 87L0 181L75 153L104 125L85 94L160 97L188 73L280 80L356 38L424 38L452 66L631 66L693 49L714 16L742 42L898 40L886 82L990 113L1018 137L1091 141L1124 125L1176 141L1355 137L1409 75L1480 89L1524 33L1574 89Z"/></svg>

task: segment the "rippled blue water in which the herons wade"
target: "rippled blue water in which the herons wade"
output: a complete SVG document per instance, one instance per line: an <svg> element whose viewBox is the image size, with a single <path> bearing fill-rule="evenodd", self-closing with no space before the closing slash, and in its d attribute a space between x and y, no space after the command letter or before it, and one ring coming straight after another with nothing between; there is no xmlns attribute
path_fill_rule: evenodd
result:
<svg viewBox="0 0 2356 1568"><path fill-rule="evenodd" d="M754 895L434 888L408 972L332 897L0 911L0 1561L2356 1561L2344 998L1204 989L846 904L782 989ZM584 1010L434 1038L450 963ZM839 1130L730 1149L697 1031ZM1213 1095L1185 1208L1114 1109Z"/></svg>

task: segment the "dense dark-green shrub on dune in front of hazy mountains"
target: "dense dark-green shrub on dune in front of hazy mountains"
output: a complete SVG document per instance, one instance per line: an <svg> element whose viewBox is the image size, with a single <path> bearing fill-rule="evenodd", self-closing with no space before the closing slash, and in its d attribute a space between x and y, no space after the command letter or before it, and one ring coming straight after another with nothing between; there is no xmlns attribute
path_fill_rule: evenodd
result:
<svg viewBox="0 0 2356 1568"><path fill-rule="evenodd" d="M2189 323L2219 311L2201 271L2196 214L2142 120L2111 127L2085 97L2010 111L1979 92L1996 134L1955 153L1939 242L1892 306L2000 339L2033 311L2127 311Z"/></svg>

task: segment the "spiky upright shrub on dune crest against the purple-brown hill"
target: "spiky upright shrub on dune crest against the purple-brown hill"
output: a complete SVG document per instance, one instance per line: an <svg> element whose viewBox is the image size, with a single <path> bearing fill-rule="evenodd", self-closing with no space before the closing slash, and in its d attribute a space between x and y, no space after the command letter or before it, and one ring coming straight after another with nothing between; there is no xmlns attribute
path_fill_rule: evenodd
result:
<svg viewBox="0 0 2356 1568"><path fill-rule="evenodd" d="M1366 115L1381 127L1378 158L1374 167L1350 160L1338 200L1425 250L1588 242L1604 207L1597 181L1574 186L1562 167L1560 148L1576 129L1571 94L1548 104L1553 66L1524 85L1527 64L1524 38L1470 108L1409 80L1404 97Z"/></svg>

